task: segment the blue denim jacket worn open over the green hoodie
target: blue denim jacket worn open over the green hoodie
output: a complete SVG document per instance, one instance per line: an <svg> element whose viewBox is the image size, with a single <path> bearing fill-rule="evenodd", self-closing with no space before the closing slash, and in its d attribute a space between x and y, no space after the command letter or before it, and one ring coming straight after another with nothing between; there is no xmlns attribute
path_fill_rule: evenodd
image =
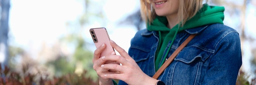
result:
<svg viewBox="0 0 256 85"><path fill-rule="evenodd" d="M184 30L177 34L168 57L191 34L198 35L180 51L158 79L166 85L236 85L242 65L238 32L223 24ZM156 72L154 62L158 41L158 32L144 29L132 38L128 51L141 70L151 77ZM119 85L127 84L120 80Z"/></svg>

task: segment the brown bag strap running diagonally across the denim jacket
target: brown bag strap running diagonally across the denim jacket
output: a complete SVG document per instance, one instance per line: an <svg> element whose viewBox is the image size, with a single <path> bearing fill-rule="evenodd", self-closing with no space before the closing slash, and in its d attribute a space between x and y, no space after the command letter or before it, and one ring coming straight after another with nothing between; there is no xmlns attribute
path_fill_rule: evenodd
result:
<svg viewBox="0 0 256 85"><path fill-rule="evenodd" d="M179 52L191 41L196 34L191 34L178 48L171 54L171 56L164 62L164 64L157 70L152 78L157 79L160 74L164 71L164 69L173 61L173 59L179 54Z"/></svg>

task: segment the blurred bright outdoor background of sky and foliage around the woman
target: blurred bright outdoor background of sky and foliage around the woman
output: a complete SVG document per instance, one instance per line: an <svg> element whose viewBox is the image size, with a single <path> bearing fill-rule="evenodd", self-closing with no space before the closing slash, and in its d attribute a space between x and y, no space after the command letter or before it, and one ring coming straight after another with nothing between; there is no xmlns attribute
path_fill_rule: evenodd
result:
<svg viewBox="0 0 256 85"><path fill-rule="evenodd" d="M0 0L0 85L98 85L90 28L105 27L128 51L145 28L139 0ZM240 34L236 85L256 85L256 0L211 0Z"/></svg>

